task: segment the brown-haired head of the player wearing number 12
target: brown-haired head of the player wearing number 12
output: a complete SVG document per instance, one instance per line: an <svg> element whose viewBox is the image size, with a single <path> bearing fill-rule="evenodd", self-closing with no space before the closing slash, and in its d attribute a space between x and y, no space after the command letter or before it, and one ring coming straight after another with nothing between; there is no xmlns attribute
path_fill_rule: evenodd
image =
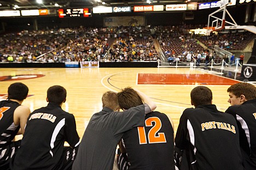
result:
<svg viewBox="0 0 256 170"><path fill-rule="evenodd" d="M131 87L126 87L118 93L118 101L120 108L123 110L143 105L143 101L138 96L137 92Z"/></svg>

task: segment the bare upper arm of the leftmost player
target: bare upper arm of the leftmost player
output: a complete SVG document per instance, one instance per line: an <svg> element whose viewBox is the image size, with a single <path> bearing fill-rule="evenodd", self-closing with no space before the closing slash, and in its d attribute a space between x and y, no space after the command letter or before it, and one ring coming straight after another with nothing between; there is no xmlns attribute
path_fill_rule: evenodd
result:
<svg viewBox="0 0 256 170"><path fill-rule="evenodd" d="M27 106L19 106L14 111L14 124L20 125L22 135L25 132L25 125L27 123L27 118L30 115L30 108Z"/></svg>

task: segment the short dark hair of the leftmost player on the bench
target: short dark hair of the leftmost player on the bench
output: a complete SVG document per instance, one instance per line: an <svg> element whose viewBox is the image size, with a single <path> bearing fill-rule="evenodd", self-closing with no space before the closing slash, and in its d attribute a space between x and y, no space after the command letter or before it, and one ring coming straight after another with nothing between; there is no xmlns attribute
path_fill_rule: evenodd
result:
<svg viewBox="0 0 256 170"><path fill-rule="evenodd" d="M8 99L24 100L27 98L28 87L23 83L13 83L8 87Z"/></svg>

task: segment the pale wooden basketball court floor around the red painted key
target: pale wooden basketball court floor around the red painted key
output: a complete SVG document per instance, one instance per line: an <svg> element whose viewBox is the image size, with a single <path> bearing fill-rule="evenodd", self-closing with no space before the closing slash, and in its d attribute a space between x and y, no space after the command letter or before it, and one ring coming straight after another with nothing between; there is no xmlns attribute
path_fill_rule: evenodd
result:
<svg viewBox="0 0 256 170"><path fill-rule="evenodd" d="M121 88L130 86L153 98L158 106L156 110L172 117L174 131L176 131L184 109L193 107L190 105L190 91L200 83L195 79L194 83L188 84L185 82L189 78L184 78L180 80L182 82L174 85L170 83L154 84L147 80L144 80L147 83L138 84L139 74L177 74L177 78L181 76L179 74L185 74L187 77L189 75L199 75L202 78L202 75L206 75L208 77L208 73L205 71L189 68L0 68L0 94L2 96L0 99L3 100L6 97L7 88L11 83L25 83L30 89L28 94L31 96L24 101L23 105L30 107L33 111L47 105L46 90L50 86L56 84L63 86L67 89L67 101L62 109L74 114L79 136L82 137L92 114L102 110L102 94L108 90L118 92ZM23 78L29 79L23 80ZM162 78L165 79L165 77ZM175 76L172 79L175 80ZM208 77L208 79L211 78ZM219 80L216 78L216 82ZM207 80L203 82L207 82ZM234 84L235 82L231 81L230 83ZM220 111L225 111L230 106L227 102L229 96L226 89L231 84L203 84L212 90L213 104L216 104Z"/></svg>

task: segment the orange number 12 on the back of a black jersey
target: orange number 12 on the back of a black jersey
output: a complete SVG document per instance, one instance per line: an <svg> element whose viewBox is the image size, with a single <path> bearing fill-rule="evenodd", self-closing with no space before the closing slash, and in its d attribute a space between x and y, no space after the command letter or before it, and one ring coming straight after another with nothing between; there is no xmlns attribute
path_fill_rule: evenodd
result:
<svg viewBox="0 0 256 170"><path fill-rule="evenodd" d="M153 126L153 122L155 125ZM150 117L145 120L146 126L153 126L148 132L148 143L166 143L165 133L158 131L162 127L161 120L158 117ZM138 128L138 136L139 136L139 144L147 144L147 135L145 131L145 127L137 127Z"/></svg>

